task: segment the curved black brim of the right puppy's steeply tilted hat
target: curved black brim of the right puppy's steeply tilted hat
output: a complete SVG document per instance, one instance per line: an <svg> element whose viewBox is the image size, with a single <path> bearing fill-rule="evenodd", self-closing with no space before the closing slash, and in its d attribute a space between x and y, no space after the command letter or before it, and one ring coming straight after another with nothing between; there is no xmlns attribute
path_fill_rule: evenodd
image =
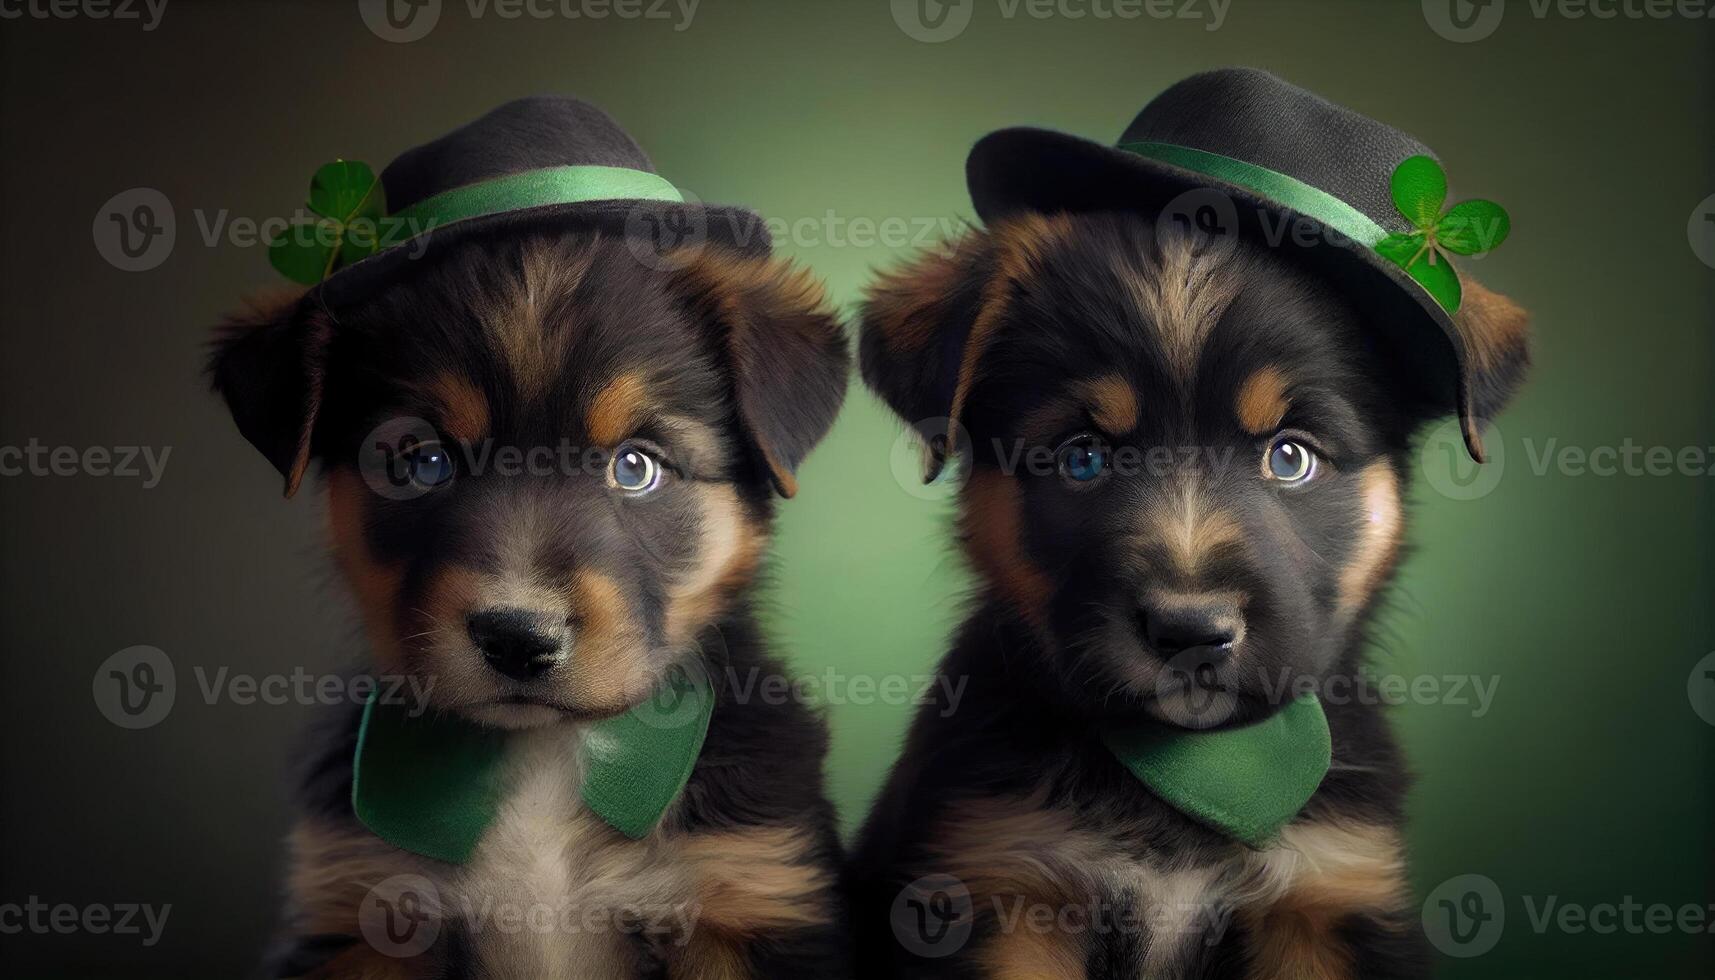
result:
<svg viewBox="0 0 1715 980"><path fill-rule="evenodd" d="M1365 244L1288 204L1161 160L1104 146L1091 139L1036 127L991 132L966 160L971 203L984 223L1020 211L1146 211L1161 208L1187 191L1207 187L1235 203L1238 232L1278 240L1341 293L1372 314L1405 362L1420 369L1423 395L1446 403L1463 422L1466 448L1483 458L1482 438L1470 419L1465 379L1465 342L1453 318L1410 275ZM1269 227L1262 227L1262 218ZM1281 235L1281 228L1314 228L1310 235Z"/></svg>

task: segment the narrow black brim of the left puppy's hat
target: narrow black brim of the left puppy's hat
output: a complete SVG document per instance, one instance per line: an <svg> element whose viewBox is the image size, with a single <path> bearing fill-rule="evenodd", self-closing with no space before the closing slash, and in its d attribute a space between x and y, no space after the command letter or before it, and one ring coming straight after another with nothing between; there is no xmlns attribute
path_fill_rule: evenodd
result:
<svg viewBox="0 0 1715 980"><path fill-rule="evenodd" d="M478 233L525 237L554 232L621 237L636 244L640 263L657 268L671 268L665 256L676 249L713 245L746 256L767 256L773 249L761 215L744 208L645 199L575 201L482 215L430 228L334 271L312 287L305 299L329 307L360 302L408 280L425 261Z"/></svg>

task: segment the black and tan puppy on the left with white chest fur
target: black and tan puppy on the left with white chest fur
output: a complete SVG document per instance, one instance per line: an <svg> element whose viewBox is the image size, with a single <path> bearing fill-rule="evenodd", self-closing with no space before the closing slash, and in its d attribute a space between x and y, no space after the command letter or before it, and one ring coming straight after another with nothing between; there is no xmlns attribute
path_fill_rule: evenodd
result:
<svg viewBox="0 0 1715 980"><path fill-rule="evenodd" d="M232 318L209 366L288 494L319 463L372 671L412 681L377 697L427 690L410 714L502 747L492 819L446 862L360 822L360 717L333 719L274 975L845 975L825 726L724 683L782 671L751 589L772 498L844 396L820 288L581 230L473 232L420 264L350 309ZM580 798L583 750L686 673L707 741L659 826L621 832ZM394 776L437 784L437 762Z"/></svg>

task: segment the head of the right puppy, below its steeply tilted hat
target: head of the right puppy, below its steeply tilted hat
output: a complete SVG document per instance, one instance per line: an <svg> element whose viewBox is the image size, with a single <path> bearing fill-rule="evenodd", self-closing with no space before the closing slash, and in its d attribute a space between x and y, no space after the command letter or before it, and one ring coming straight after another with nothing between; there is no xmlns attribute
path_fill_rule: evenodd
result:
<svg viewBox="0 0 1715 980"><path fill-rule="evenodd" d="M1489 354L1523 355L1516 307L1466 302L1502 304ZM1432 412L1286 257L1120 215L923 259L871 293L863 354L900 415L962 422L966 549L1065 695L1194 728L1278 709L1350 649Z"/></svg>

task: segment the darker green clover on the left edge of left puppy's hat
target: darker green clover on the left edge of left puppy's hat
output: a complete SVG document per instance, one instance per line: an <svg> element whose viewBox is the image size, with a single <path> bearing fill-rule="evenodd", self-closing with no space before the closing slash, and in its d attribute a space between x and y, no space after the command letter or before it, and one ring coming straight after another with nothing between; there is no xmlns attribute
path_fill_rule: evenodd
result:
<svg viewBox="0 0 1715 980"><path fill-rule="evenodd" d="M381 245L386 203L367 163L334 160L310 178L312 220L293 221L268 244L268 261L295 283L316 285L334 269L370 256Z"/></svg>

